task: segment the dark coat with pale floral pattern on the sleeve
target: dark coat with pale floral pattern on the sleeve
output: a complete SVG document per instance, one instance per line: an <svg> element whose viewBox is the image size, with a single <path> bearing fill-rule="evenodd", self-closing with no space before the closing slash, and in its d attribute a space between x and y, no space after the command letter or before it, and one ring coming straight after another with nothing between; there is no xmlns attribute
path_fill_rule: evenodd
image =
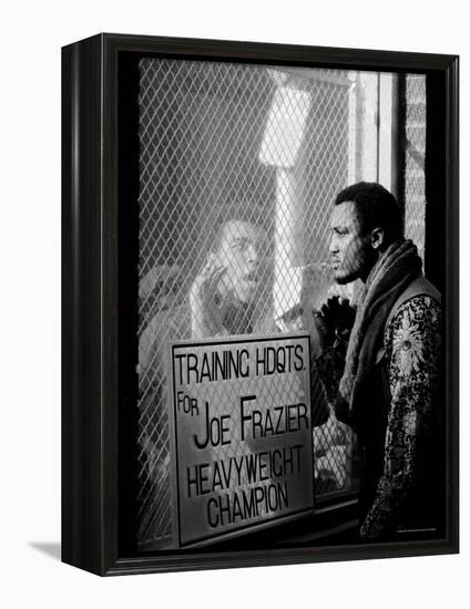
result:
<svg viewBox="0 0 470 609"><path fill-rule="evenodd" d="M439 533L445 463L441 338L439 293L420 277L387 320L370 375L367 416L355 429L362 452L359 504L365 540ZM339 360L331 351L318 360L330 396L341 375Z"/></svg>

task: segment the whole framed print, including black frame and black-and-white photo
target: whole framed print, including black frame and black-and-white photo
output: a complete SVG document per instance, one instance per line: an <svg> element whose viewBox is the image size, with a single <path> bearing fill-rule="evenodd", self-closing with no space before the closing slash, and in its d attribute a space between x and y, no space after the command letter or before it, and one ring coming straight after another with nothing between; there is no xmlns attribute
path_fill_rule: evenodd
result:
<svg viewBox="0 0 470 609"><path fill-rule="evenodd" d="M62 60L62 559L458 551L458 58Z"/></svg>

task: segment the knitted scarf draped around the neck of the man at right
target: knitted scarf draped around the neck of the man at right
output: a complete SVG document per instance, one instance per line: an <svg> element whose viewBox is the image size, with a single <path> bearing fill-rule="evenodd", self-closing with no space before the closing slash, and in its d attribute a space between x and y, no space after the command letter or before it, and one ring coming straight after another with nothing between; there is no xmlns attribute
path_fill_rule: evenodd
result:
<svg viewBox="0 0 470 609"><path fill-rule="evenodd" d="M376 262L359 295L335 409L337 417L352 429L370 401L370 372L384 344L387 318L400 293L420 271L421 259L416 246L401 239Z"/></svg>

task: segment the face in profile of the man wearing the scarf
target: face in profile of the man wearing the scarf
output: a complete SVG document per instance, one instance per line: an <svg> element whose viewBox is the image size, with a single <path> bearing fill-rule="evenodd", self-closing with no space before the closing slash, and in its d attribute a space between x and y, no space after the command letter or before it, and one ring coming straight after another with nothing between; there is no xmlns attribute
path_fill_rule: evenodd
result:
<svg viewBox="0 0 470 609"><path fill-rule="evenodd" d="M330 262L338 283L365 279L374 265L375 252L364 235L354 202L335 205L331 214Z"/></svg>

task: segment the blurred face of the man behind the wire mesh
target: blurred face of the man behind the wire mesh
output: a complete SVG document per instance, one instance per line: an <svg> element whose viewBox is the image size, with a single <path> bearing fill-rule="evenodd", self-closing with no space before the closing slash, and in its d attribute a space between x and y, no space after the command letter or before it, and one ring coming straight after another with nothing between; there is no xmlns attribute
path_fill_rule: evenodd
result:
<svg viewBox="0 0 470 609"><path fill-rule="evenodd" d="M217 262L225 269L219 290L236 302L253 298L259 283L259 248L263 231L251 223L229 220L222 228L216 251Z"/></svg>

